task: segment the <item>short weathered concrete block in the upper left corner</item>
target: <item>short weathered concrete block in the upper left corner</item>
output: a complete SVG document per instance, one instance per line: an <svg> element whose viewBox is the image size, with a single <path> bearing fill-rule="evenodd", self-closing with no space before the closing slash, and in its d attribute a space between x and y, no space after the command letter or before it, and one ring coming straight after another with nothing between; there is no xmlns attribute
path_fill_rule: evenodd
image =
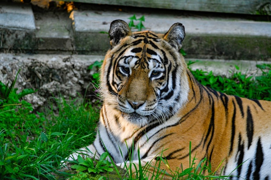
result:
<svg viewBox="0 0 271 180"><path fill-rule="evenodd" d="M32 51L36 45L34 14L29 5L0 3L0 49Z"/></svg>

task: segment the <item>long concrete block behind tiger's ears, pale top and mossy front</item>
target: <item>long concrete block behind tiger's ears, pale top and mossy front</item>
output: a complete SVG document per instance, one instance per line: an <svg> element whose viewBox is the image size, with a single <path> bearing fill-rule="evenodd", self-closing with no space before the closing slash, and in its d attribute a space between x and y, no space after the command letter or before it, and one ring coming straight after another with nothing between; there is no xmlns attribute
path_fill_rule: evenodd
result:
<svg viewBox="0 0 271 180"><path fill-rule="evenodd" d="M81 53L106 52L110 47L109 40L105 39L106 34L99 32L107 32L113 20L127 21L132 15L117 11L73 11L70 17L76 50ZM137 14L137 17L142 15L145 15L145 30L158 33L166 33L173 23L182 23L186 34L183 49L188 57L271 61L270 22L148 13Z"/></svg>

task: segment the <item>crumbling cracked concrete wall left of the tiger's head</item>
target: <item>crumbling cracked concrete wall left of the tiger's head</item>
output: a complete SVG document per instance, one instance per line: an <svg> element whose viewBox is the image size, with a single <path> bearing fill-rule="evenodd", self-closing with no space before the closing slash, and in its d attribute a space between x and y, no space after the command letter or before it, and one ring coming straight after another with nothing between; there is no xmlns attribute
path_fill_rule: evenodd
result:
<svg viewBox="0 0 271 180"><path fill-rule="evenodd" d="M14 88L18 88L17 92L24 88L38 89L24 97L37 109L47 103L48 97L59 93L64 98L78 96L78 92L84 95L92 74L97 72L89 71L87 67L95 61L101 61L100 57L89 59L84 55L0 54L0 81L11 83L20 69ZM93 86L90 85L87 95L92 90Z"/></svg>

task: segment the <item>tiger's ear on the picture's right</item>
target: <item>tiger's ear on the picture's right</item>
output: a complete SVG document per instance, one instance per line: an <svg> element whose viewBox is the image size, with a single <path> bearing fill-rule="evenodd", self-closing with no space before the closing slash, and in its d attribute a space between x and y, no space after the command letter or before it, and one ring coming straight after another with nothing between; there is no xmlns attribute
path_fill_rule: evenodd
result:
<svg viewBox="0 0 271 180"><path fill-rule="evenodd" d="M164 39L178 51L182 48L182 41L184 38L185 30L181 23L173 24L168 32L164 35Z"/></svg>

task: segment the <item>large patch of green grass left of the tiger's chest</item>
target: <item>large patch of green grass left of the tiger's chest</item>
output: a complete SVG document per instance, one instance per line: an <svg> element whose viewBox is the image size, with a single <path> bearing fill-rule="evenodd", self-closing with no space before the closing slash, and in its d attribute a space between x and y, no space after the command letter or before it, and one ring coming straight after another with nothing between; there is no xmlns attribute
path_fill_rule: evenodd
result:
<svg viewBox="0 0 271 180"><path fill-rule="evenodd" d="M55 179L51 173L67 176L59 171L60 162L92 143L98 110L79 99L55 101L58 106L51 103L46 115L31 113L31 104L26 102L31 108L27 109L25 101L16 111L0 113L0 179Z"/></svg>

